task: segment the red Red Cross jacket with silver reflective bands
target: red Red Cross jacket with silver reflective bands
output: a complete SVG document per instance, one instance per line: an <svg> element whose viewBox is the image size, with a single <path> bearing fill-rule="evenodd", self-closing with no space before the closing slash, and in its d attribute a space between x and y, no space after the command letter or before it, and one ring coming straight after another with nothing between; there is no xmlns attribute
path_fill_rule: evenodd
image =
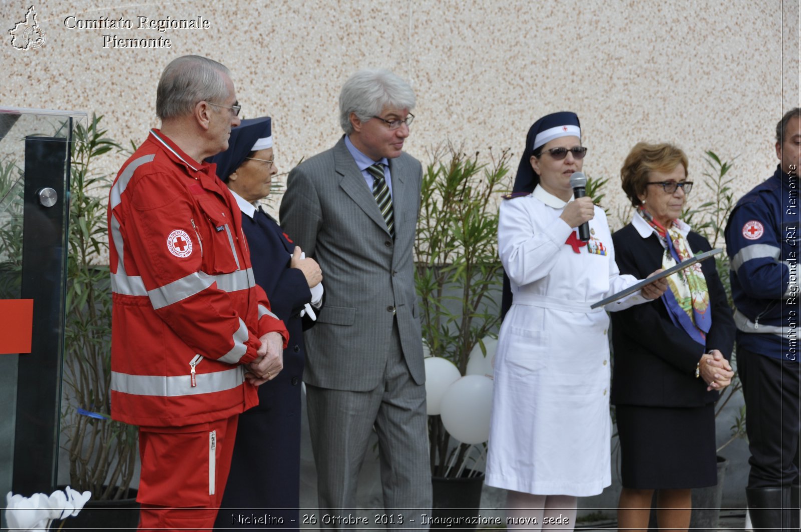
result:
<svg viewBox="0 0 801 532"><path fill-rule="evenodd" d="M258 404L259 338L288 332L256 285L239 208L215 165L152 130L111 187L111 417L195 425Z"/></svg>

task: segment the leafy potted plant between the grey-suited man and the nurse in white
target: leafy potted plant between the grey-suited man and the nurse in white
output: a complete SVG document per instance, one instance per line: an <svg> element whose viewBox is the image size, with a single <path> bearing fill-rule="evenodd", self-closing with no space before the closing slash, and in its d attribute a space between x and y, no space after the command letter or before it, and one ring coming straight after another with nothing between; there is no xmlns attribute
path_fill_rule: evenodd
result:
<svg viewBox="0 0 801 532"><path fill-rule="evenodd" d="M497 254L497 203L508 174L509 151L489 165L449 147L437 151L423 175L421 211L414 252L417 295L425 344L433 357L442 357L465 375L469 356L493 334L500 321L497 301L502 286ZM508 188L508 185L506 186ZM483 474L473 474L473 445L451 437L439 415L429 416L430 463L433 478L477 479L481 497ZM481 453L486 444L481 444ZM439 502L435 480L434 506ZM475 489L473 489L475 490ZM469 504L466 499L457 506ZM473 495L473 504L478 499Z"/></svg>

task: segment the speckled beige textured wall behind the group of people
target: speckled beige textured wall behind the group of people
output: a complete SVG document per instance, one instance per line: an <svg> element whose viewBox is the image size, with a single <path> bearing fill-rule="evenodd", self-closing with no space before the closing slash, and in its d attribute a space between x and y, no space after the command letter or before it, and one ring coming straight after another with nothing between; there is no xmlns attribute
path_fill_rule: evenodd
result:
<svg viewBox="0 0 801 532"><path fill-rule="evenodd" d="M0 0L4 34L31 2ZM607 196L615 212L625 207L619 167L637 141L678 143L696 181L704 150L738 156L739 195L771 174L771 132L783 110L799 104L799 0L116 4L36 2L46 41L14 50L3 39L0 105L96 112L113 138L139 143L158 125L163 67L203 54L231 68L245 116L272 115L278 161L288 169L340 135L344 79L360 67L387 67L417 92L407 149L424 162L444 141L482 156L489 147L520 154L534 119L576 111L590 148L585 171L613 178ZM70 15L123 17L134 26L138 16L201 16L210 27L70 30ZM103 34L172 45L104 48Z"/></svg>

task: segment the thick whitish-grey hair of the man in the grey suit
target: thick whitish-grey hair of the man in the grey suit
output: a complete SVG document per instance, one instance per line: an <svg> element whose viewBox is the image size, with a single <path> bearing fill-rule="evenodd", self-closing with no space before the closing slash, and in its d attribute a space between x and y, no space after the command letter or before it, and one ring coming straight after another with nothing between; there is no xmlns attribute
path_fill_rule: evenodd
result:
<svg viewBox="0 0 801 532"><path fill-rule="evenodd" d="M413 109L414 91L399 76L381 69L364 69L348 78L340 92L340 125L345 135L353 132L351 113L362 122L380 115L384 107ZM405 117L400 117L401 119Z"/></svg>

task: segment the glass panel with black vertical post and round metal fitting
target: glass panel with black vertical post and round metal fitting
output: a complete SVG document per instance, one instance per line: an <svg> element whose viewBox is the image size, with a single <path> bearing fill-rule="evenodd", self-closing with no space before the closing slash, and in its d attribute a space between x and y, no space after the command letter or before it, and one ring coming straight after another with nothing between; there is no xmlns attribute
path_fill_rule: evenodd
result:
<svg viewBox="0 0 801 532"><path fill-rule="evenodd" d="M48 492L55 482L66 191L72 128L84 120L78 111L0 107L0 300L30 299L34 308L30 353L0 354L2 494Z"/></svg>

